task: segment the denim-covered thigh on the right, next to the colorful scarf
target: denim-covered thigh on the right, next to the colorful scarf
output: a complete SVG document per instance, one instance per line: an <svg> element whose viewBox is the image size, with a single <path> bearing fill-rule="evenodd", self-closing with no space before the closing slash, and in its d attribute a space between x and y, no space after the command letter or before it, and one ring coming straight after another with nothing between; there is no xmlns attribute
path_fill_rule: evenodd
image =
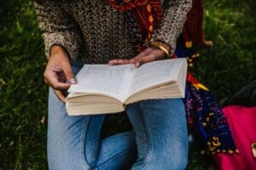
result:
<svg viewBox="0 0 256 170"><path fill-rule="evenodd" d="M132 169L183 169L188 157L186 116L181 99L152 99L128 105L138 160Z"/></svg>

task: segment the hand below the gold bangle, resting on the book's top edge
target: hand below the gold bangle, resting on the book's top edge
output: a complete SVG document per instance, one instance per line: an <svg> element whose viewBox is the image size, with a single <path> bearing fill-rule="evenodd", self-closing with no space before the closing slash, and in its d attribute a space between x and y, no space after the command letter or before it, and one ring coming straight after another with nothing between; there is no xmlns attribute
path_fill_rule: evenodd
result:
<svg viewBox="0 0 256 170"><path fill-rule="evenodd" d="M109 65L125 65L125 64L134 64L136 67L149 63L151 61L165 59L166 54L160 49L157 48L146 48L140 54L137 54L136 57L132 59L112 59L108 62Z"/></svg>

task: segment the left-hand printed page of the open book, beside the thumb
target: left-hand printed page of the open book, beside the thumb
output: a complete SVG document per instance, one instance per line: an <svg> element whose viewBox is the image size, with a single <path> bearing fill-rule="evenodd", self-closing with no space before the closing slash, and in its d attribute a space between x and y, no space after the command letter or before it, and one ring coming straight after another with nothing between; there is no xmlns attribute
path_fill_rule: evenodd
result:
<svg viewBox="0 0 256 170"><path fill-rule="evenodd" d="M134 65L84 65L76 77L78 83L68 92L105 94L123 102L134 71Z"/></svg>

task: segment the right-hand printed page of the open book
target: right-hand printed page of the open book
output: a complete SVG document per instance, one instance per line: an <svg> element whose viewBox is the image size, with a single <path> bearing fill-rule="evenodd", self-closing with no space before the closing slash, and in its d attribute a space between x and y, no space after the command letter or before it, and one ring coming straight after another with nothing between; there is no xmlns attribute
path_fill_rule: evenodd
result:
<svg viewBox="0 0 256 170"><path fill-rule="evenodd" d="M178 71L185 59L165 59L144 64L137 69L131 94L162 82L177 82Z"/></svg>

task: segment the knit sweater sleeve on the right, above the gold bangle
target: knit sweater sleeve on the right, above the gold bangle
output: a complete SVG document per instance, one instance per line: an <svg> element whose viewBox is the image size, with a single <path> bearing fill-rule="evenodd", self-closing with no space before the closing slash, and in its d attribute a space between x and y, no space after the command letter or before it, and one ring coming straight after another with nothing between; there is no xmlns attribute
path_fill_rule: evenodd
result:
<svg viewBox="0 0 256 170"><path fill-rule="evenodd" d="M149 42L161 41L170 45L171 53L176 48L177 37L183 31L191 0L165 0L162 4L163 18L160 26L154 31Z"/></svg>

